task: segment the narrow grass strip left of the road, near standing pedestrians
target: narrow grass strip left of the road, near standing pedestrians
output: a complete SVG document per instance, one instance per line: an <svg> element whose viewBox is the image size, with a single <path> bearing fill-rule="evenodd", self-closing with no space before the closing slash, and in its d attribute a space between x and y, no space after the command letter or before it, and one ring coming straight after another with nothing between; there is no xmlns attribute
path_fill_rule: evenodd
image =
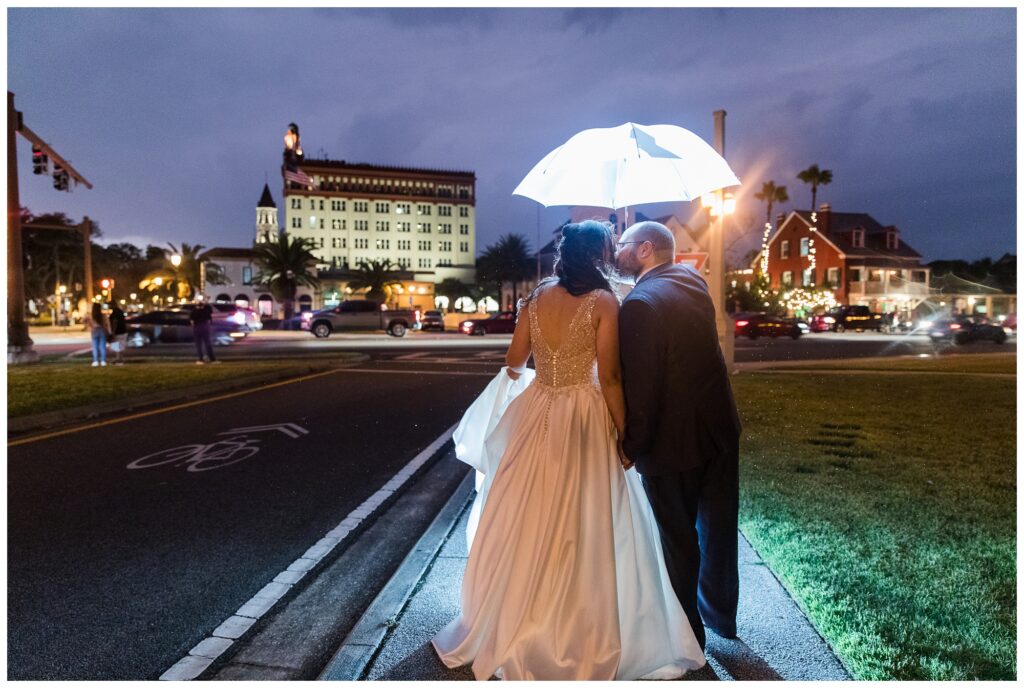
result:
<svg viewBox="0 0 1024 688"><path fill-rule="evenodd" d="M220 365L132 361L92 368L88 361L41 362L7 368L7 418L184 389L222 380L268 375L301 375L329 363L298 360L233 361Z"/></svg>

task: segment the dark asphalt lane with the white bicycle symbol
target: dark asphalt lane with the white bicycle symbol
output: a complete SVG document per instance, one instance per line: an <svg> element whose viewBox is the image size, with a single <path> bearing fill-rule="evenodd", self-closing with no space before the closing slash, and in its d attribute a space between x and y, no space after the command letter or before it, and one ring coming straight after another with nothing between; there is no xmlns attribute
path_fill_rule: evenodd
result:
<svg viewBox="0 0 1024 688"><path fill-rule="evenodd" d="M157 678L457 422L497 371L380 368L9 446L8 678ZM423 373L442 369L461 375ZM276 424L308 434L229 432ZM240 434L258 450L238 463L127 468Z"/></svg>

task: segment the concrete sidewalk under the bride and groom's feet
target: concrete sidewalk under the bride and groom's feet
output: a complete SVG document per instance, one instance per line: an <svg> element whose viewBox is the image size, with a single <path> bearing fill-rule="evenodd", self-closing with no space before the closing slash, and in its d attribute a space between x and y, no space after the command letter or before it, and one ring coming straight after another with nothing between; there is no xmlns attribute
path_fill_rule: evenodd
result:
<svg viewBox="0 0 1024 688"><path fill-rule="evenodd" d="M470 681L430 639L459 613L472 474L346 637L321 680ZM684 680L843 681L850 676L739 534L739 638L708 634L708 665Z"/></svg>

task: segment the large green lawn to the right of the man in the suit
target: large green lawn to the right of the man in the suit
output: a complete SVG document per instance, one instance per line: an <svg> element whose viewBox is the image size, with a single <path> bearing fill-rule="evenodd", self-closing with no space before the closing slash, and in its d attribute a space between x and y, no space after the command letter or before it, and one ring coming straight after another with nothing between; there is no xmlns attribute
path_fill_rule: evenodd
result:
<svg viewBox="0 0 1024 688"><path fill-rule="evenodd" d="M857 679L1016 678L1016 380L887 375L986 358L733 378L741 530Z"/></svg>

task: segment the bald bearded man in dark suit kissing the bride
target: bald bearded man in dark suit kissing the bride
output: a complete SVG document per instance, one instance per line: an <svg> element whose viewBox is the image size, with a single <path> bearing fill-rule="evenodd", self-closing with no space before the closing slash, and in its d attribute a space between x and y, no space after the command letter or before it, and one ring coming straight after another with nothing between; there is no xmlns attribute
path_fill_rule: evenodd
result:
<svg viewBox="0 0 1024 688"><path fill-rule="evenodd" d="M621 449L640 473L669 577L703 648L705 625L736 636L740 428L708 285L673 264L675 253L657 222L634 224L616 246L616 267L637 281L618 314Z"/></svg>

